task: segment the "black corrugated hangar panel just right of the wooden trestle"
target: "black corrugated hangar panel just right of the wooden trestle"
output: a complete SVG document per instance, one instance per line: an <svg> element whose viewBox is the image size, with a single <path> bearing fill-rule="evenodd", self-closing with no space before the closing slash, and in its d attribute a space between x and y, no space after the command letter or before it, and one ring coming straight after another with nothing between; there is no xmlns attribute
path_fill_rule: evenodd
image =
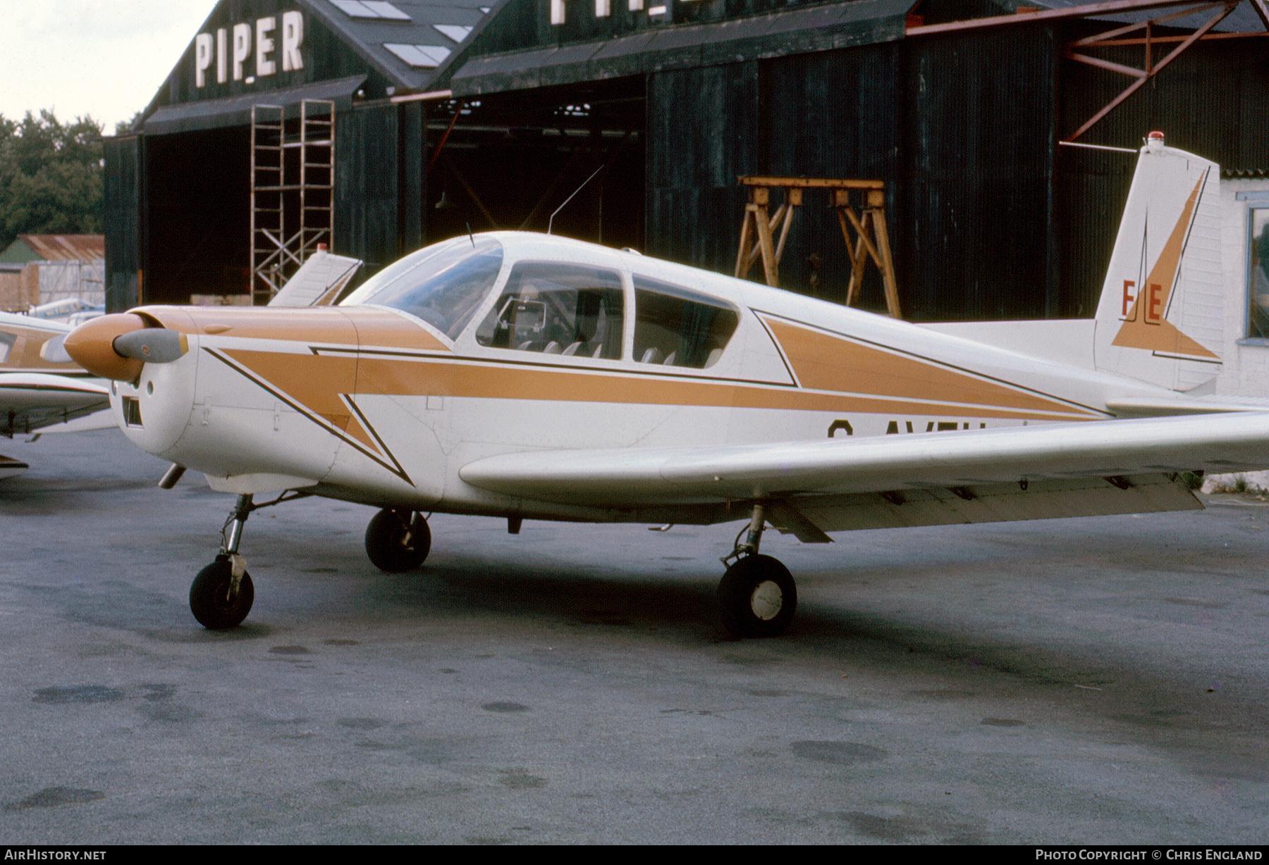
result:
<svg viewBox="0 0 1269 865"><path fill-rule="evenodd" d="M1053 266L1047 30L910 41L900 290L924 321L1043 318Z"/></svg>

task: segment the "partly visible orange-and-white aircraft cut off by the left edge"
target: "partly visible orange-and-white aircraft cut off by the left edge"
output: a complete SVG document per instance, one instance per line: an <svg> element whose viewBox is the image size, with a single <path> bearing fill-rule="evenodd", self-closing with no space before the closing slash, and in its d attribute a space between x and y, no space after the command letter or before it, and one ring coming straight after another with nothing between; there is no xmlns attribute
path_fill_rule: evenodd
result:
<svg viewBox="0 0 1269 865"><path fill-rule="evenodd" d="M76 432L114 426L105 383L71 360L62 340L71 326L0 312L0 435ZM22 474L22 460L0 457L0 479Z"/></svg>

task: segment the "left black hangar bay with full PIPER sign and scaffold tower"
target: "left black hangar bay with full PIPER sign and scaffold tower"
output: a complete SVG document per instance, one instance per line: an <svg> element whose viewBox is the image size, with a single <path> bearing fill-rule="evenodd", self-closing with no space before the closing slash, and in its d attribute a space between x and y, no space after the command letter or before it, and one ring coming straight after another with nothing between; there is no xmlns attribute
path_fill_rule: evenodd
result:
<svg viewBox="0 0 1269 865"><path fill-rule="evenodd" d="M491 1L214 4L141 128L107 138L109 308L266 299L317 244L372 270L421 245L423 105L388 98Z"/></svg>

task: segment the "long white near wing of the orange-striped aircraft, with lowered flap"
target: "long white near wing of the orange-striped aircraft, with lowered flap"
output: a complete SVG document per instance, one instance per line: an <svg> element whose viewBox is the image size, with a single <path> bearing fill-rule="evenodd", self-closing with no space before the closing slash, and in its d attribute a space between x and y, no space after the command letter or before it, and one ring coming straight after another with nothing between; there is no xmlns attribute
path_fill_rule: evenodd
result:
<svg viewBox="0 0 1269 865"><path fill-rule="evenodd" d="M1200 507L1180 472L1269 467L1269 412L760 445L529 452L463 467L525 500L739 519L772 502L803 540L845 529Z"/></svg>

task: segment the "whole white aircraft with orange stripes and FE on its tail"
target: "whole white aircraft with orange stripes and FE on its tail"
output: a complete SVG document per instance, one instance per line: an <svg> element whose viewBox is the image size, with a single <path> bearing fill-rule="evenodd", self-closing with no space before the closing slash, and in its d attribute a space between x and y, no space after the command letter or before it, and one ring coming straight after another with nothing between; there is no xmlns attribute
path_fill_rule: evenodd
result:
<svg viewBox="0 0 1269 865"><path fill-rule="evenodd" d="M722 618L774 634L797 591L759 553L768 524L822 543L1192 509L1181 472L1269 467L1269 415L1246 413L1269 403L1197 396L1220 369L1218 174L1150 140L1089 322L923 327L495 232L419 250L338 307L142 307L66 350L113 380L128 438L173 460L161 486L190 467L239 495L190 589L208 628L250 610L247 515L319 495L382 507L365 549L388 572L428 556L420 511L505 516L511 533L745 519Z"/></svg>

